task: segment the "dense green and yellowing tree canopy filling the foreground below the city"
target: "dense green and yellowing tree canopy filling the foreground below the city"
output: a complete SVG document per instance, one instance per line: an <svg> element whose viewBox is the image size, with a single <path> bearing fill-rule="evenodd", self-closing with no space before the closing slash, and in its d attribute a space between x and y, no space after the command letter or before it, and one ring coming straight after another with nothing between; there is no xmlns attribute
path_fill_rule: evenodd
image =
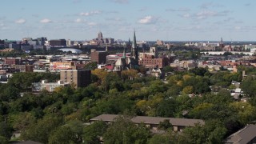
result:
<svg viewBox="0 0 256 144"><path fill-rule="evenodd" d="M21 140L42 143L98 143L101 138L106 143L221 143L229 134L256 120L253 76L242 81L241 71L210 74L202 68L165 70L174 72L167 82L138 77L136 70L117 74L96 69L90 86L58 87L53 93L43 90L39 94L30 92L32 82L46 78L54 81L59 76L14 74L7 84L0 85L0 141L6 143L12 132L20 131ZM251 98L249 102L235 101L230 96L227 88L232 81L242 81L242 90ZM111 125L86 124L99 114L127 116ZM171 123L162 122L159 128L168 132L152 135L143 124L130 122L132 115L201 118L206 124L186 128L179 134L170 128Z"/></svg>

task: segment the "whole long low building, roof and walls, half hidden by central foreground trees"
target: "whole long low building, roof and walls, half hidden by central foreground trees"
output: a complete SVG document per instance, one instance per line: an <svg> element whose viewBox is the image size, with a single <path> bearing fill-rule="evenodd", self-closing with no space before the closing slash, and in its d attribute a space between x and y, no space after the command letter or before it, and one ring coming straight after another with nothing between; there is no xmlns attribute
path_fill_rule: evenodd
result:
<svg viewBox="0 0 256 144"><path fill-rule="evenodd" d="M118 118L117 114L102 114L98 117L91 118L90 123L96 121L103 121L111 123L115 121L115 118ZM164 120L169 120L173 126L174 131L182 131L187 126L195 126L196 123L204 125L205 122L201 119L188 119L188 118L160 118L160 117L146 117L146 116L135 116L131 118L131 122L135 124L144 123L147 127L150 127L150 130L158 130L160 122Z"/></svg>

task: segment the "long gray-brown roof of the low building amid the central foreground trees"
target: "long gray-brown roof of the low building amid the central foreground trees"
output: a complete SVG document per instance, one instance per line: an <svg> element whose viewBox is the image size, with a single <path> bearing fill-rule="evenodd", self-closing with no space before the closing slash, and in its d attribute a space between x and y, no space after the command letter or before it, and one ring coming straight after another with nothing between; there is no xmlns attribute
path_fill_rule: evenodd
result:
<svg viewBox="0 0 256 144"><path fill-rule="evenodd" d="M102 114L98 117L91 118L90 121L105 121L105 122L113 122L114 118L117 118L117 114ZM205 122L202 119L187 119L187 118L160 118L160 117L146 117L146 116L135 116L131 118L131 121L134 123L145 123L145 124L159 124L164 120L170 120L170 123L173 126L194 126L196 123L200 123L202 125Z"/></svg>

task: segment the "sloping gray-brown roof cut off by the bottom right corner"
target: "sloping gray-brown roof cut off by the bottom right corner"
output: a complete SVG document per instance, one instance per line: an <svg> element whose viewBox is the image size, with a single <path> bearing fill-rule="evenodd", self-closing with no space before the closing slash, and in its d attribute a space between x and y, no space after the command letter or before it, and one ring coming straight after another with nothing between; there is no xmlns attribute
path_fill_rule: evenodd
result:
<svg viewBox="0 0 256 144"><path fill-rule="evenodd" d="M256 138L256 125L249 125L226 138L225 143L248 143Z"/></svg>

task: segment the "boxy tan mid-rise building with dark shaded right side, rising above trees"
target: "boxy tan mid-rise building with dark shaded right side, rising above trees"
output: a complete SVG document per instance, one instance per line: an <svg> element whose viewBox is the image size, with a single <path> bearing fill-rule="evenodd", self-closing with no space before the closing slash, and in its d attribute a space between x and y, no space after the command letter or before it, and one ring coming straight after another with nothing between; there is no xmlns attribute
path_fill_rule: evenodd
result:
<svg viewBox="0 0 256 144"><path fill-rule="evenodd" d="M74 84L76 88L90 84L90 70L61 70L61 80Z"/></svg>

